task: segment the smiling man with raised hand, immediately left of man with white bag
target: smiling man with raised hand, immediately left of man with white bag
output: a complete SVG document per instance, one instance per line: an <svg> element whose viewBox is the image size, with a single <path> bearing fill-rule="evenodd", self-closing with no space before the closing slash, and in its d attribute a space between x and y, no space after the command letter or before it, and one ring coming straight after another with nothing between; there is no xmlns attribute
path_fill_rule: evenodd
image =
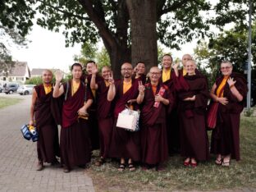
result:
<svg viewBox="0 0 256 192"><path fill-rule="evenodd" d="M92 68L92 78L90 81L91 89L96 90L96 117L98 122L99 131L99 146L100 146L100 158L95 162L96 166L101 166L105 162L105 158L109 158L109 148L112 137L112 102L107 100L108 89L114 86L114 80L111 68L109 66L103 66L102 77L103 80L96 81L96 75L98 69Z"/></svg>

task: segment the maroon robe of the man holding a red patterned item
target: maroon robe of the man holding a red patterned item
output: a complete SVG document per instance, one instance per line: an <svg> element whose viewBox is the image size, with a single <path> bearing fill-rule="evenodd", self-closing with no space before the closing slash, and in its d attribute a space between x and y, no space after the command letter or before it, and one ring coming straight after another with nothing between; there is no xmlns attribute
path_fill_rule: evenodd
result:
<svg viewBox="0 0 256 192"><path fill-rule="evenodd" d="M163 87L165 93L162 98L167 98L169 104L162 103L153 107L154 94L152 85L145 85L144 101L140 113L141 120L141 162L156 165L168 158L166 118L168 107L172 106L173 99L166 85L158 84L156 93Z"/></svg>

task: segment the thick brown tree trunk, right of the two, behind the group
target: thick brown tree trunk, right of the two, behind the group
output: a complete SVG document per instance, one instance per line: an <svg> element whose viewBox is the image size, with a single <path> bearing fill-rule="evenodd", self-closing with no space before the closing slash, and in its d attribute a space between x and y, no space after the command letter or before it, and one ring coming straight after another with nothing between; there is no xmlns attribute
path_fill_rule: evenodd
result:
<svg viewBox="0 0 256 192"><path fill-rule="evenodd" d="M152 0L126 0L130 14L131 61L145 62L147 70L158 65L157 8Z"/></svg>

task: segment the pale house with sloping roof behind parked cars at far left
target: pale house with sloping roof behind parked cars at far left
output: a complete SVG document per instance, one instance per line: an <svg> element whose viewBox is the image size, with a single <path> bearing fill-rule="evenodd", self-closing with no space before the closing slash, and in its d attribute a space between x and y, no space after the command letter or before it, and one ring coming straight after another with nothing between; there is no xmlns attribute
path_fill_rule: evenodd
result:
<svg viewBox="0 0 256 192"><path fill-rule="evenodd" d="M27 62L16 62L11 69L0 71L0 81L19 82L24 84L30 79L30 68Z"/></svg>

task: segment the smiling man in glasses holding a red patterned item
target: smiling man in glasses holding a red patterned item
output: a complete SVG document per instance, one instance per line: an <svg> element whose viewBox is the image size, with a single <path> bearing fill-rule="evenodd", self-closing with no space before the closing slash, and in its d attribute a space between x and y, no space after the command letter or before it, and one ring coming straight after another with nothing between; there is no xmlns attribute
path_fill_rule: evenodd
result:
<svg viewBox="0 0 256 192"><path fill-rule="evenodd" d="M158 67L151 67L150 83L143 85L139 81L137 97L137 103L142 104L141 161L144 169L156 167L157 171L162 171L162 163L168 158L166 118L173 103L170 90L160 78Z"/></svg>

